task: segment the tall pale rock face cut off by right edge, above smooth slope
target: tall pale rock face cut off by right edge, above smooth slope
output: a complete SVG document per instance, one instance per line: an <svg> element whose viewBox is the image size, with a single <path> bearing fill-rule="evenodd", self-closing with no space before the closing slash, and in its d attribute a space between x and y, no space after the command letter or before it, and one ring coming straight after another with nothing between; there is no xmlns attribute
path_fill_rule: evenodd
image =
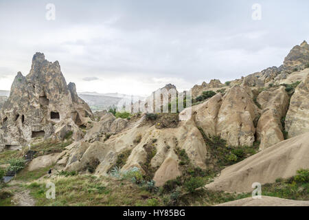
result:
<svg viewBox="0 0 309 220"><path fill-rule="evenodd" d="M290 98L290 107L286 113L286 131L288 137L309 131L309 74Z"/></svg>

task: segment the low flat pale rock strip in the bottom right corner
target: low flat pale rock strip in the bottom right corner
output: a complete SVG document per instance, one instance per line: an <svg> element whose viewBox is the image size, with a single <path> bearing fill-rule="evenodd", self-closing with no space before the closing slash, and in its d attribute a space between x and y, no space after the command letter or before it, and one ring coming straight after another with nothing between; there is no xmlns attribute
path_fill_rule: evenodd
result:
<svg viewBox="0 0 309 220"><path fill-rule="evenodd" d="M238 199L236 201L221 203L217 206L309 206L309 201L282 199L263 195L261 199L253 199L252 197L248 197Z"/></svg>

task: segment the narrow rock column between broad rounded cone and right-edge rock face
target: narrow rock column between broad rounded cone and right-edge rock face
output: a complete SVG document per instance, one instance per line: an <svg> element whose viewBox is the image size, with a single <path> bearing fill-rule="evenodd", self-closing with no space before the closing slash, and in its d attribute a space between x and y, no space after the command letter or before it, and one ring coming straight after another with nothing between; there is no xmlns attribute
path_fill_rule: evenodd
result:
<svg viewBox="0 0 309 220"><path fill-rule="evenodd" d="M289 97L285 87L273 91L262 91L258 98L262 115L258 120L257 136L261 142L260 150L284 140L281 119L288 111Z"/></svg>

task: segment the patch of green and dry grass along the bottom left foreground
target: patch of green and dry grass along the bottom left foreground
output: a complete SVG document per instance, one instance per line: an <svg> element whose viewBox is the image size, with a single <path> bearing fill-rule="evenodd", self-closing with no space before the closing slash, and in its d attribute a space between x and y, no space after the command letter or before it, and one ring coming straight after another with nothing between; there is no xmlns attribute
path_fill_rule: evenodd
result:
<svg viewBox="0 0 309 220"><path fill-rule="evenodd" d="M130 181L111 177L76 175L58 177L53 182L56 185L56 199L46 199L46 181L26 186L36 199L36 206L146 206L145 198L151 197L150 192ZM106 182L107 185L103 184Z"/></svg>

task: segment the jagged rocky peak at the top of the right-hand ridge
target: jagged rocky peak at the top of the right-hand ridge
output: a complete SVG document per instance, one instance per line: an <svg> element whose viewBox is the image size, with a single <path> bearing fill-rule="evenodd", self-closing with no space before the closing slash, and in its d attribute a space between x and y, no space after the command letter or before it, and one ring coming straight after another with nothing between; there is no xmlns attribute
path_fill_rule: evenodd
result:
<svg viewBox="0 0 309 220"><path fill-rule="evenodd" d="M293 47L288 56L284 58L284 67L286 69L304 69L308 63L309 45L306 41Z"/></svg>

